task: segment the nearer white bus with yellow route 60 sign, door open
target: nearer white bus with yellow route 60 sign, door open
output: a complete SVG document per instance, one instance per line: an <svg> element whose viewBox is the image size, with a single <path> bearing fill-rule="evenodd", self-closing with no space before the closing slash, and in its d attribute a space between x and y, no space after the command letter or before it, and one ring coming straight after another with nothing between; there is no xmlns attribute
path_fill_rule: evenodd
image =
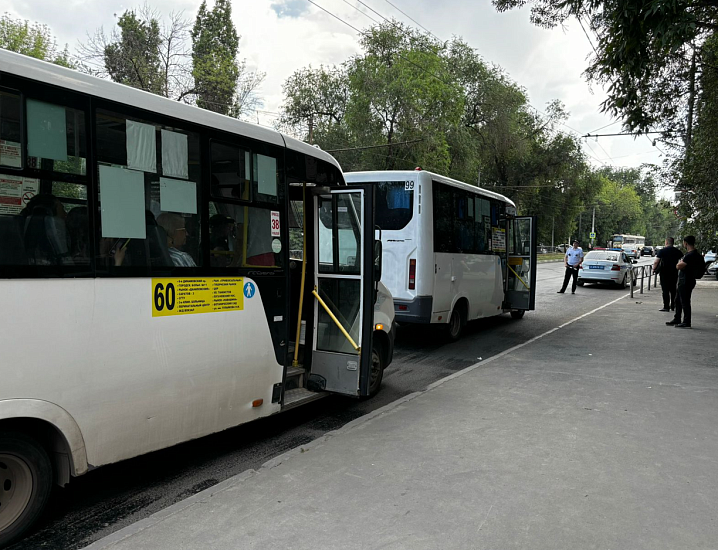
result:
<svg viewBox="0 0 718 550"><path fill-rule="evenodd" d="M375 393L372 206L315 147L0 50L0 546L72 476Z"/></svg>

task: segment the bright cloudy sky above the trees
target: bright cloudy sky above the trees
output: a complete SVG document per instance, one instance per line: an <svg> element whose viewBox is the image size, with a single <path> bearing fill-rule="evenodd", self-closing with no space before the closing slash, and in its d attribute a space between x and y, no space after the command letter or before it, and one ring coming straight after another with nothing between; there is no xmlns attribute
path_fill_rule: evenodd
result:
<svg viewBox="0 0 718 550"><path fill-rule="evenodd" d="M3 10L13 17L47 24L60 45L68 44L74 52L87 33L103 27L109 34L119 15L142 2L4 0ZM312 2L359 29L373 24L365 13L379 19L357 0ZM602 89L589 86L582 76L592 46L576 21L563 28L540 29L530 23L528 8L498 13L490 0L362 2L383 17L417 28L421 25L441 40L462 37L485 61L501 66L525 88L531 105L539 111L559 99L570 113L563 131L578 135L621 131L620 123L600 112L605 99ZM148 3L161 14L182 11L194 21L201 0ZM212 0L208 3L211 6ZM309 65L339 64L360 52L357 32L309 0L234 0L232 17L241 35L240 58L246 59L248 68L266 73L259 89L264 104L252 118L260 124L271 126L276 120L283 100L282 84L294 71ZM654 147L646 136L588 138L583 143L595 166L637 167L660 164L663 158L660 145Z"/></svg>

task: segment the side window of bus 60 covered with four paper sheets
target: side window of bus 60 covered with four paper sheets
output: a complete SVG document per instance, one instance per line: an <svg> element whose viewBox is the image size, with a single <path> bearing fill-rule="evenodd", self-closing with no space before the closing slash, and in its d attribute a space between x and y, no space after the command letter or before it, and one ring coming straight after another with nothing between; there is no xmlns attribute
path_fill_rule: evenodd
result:
<svg viewBox="0 0 718 550"><path fill-rule="evenodd" d="M201 266L198 136L104 109L96 121L98 267Z"/></svg>

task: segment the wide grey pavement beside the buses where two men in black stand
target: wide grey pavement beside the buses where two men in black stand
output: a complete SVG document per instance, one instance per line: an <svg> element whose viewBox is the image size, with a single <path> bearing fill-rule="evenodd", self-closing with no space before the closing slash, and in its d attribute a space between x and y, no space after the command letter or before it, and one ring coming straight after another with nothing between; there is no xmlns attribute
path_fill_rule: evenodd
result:
<svg viewBox="0 0 718 550"><path fill-rule="evenodd" d="M618 299L88 548L715 549L718 283L693 296L692 330Z"/></svg>

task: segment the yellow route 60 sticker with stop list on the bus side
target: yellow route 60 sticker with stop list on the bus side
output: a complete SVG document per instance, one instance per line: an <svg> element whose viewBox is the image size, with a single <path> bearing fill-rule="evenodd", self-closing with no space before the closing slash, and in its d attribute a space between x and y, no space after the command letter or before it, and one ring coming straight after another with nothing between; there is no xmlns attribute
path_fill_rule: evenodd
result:
<svg viewBox="0 0 718 550"><path fill-rule="evenodd" d="M241 311L241 277L152 279L152 317Z"/></svg>

